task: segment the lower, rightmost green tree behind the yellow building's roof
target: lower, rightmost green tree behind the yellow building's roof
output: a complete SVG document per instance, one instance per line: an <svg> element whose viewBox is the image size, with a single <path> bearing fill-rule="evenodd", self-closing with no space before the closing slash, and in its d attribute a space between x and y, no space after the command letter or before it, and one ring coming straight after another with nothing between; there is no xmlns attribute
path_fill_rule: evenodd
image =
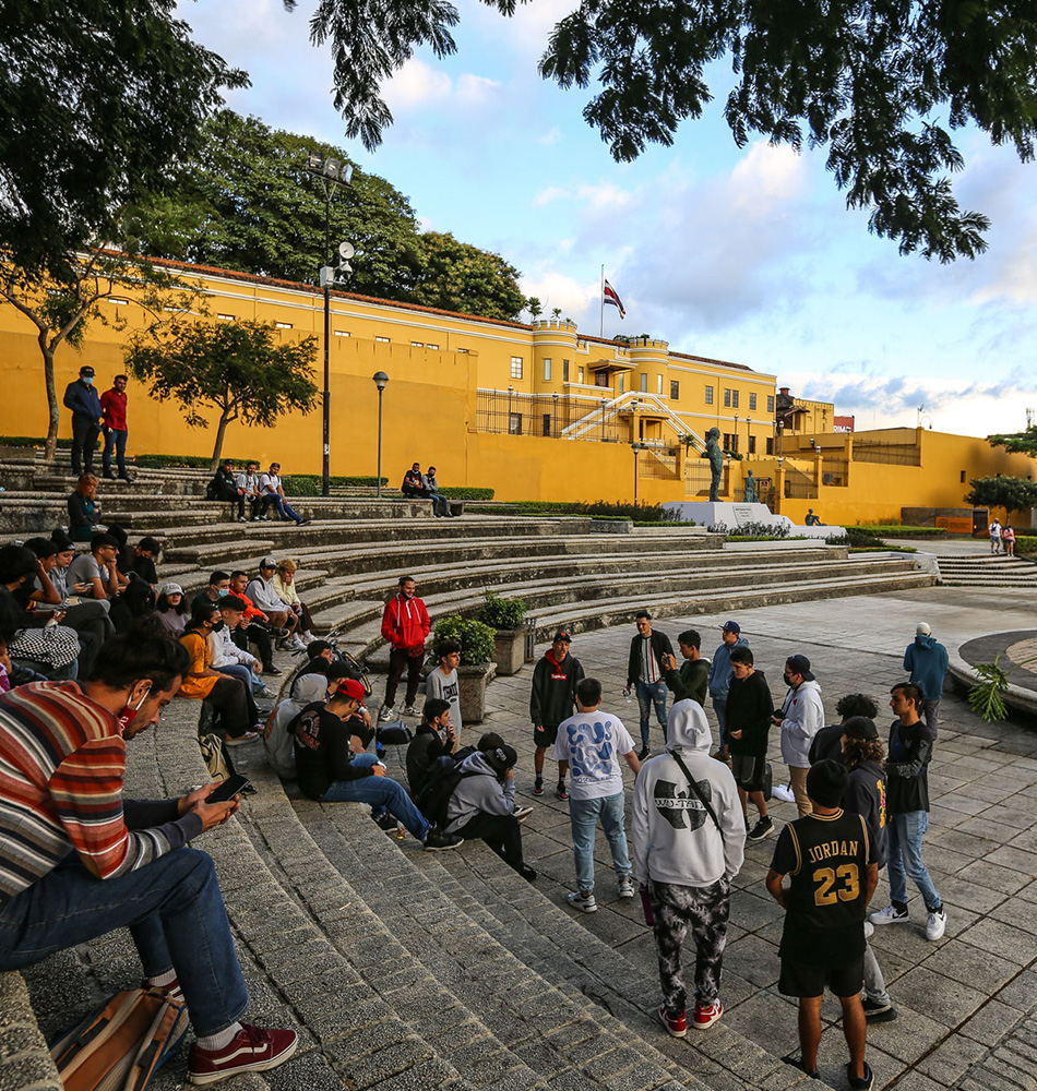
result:
<svg viewBox="0 0 1037 1091"><path fill-rule="evenodd" d="M525 305L518 271L499 254L452 235L418 236L420 268L409 301L488 319L514 319Z"/></svg>

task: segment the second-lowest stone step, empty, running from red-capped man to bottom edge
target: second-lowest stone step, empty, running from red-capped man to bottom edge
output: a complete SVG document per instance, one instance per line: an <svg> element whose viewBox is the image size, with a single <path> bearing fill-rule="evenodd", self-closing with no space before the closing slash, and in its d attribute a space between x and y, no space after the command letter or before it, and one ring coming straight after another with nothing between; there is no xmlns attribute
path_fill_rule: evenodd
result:
<svg viewBox="0 0 1037 1091"><path fill-rule="evenodd" d="M350 876L366 904L444 988L478 1012L521 1065L538 1075L539 1086L717 1088L660 1053L655 1035L631 1033L583 993L545 980L410 864L409 854L401 860L362 811L295 805L324 855ZM664 1036L661 1028L658 1036ZM753 1086L732 1079L725 1091Z"/></svg>

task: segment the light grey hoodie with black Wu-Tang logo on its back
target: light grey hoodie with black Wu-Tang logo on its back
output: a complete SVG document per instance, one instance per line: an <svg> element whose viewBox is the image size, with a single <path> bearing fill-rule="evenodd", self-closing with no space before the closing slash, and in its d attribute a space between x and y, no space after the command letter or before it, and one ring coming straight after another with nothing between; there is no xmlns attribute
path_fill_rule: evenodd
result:
<svg viewBox="0 0 1037 1091"><path fill-rule="evenodd" d="M634 782L630 835L639 883L704 887L734 878L746 853L746 820L731 770L710 757L710 724L702 706L686 698L670 709L667 753L641 767ZM723 829L710 817L670 756L680 754Z"/></svg>

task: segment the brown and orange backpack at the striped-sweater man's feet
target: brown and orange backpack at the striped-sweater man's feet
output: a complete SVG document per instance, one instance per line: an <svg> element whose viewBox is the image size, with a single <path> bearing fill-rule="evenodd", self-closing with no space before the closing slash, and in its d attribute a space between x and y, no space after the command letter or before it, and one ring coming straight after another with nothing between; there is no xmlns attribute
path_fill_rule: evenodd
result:
<svg viewBox="0 0 1037 1091"><path fill-rule="evenodd" d="M144 1091L187 1034L183 1004L162 988L127 988L50 1046L65 1091Z"/></svg>

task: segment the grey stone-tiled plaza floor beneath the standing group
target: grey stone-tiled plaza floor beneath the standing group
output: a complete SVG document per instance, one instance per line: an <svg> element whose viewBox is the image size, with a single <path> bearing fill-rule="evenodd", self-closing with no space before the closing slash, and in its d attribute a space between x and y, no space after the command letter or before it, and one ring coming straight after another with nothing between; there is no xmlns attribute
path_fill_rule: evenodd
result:
<svg viewBox="0 0 1037 1091"><path fill-rule="evenodd" d="M867 693L880 705L884 735L884 724L892 719L889 690L905 679L904 649L918 621L928 621L938 639L958 644L993 630L1027 627L1033 603L1023 599L1013 591L929 588L909 597L891 592L744 610L736 618L777 700L784 695L784 660L803 654L821 683L829 722L837 719L834 709L841 696ZM675 645L679 631L698 628L704 654L712 655L725 620L666 619L658 627ZM572 654L588 674L604 681L606 707L623 719L636 741L637 707L621 693L632 635L632 626L577 635ZM538 648L538 654L544 650ZM538 888L564 904L565 894L574 889L568 805L553 798L550 766L545 770L547 793L539 800L532 794L531 675L527 666L491 684L490 715L481 729L466 729L466 741L492 728L518 750L518 794L523 804L535 807L524 835L526 858L540 873ZM712 709L708 716L715 738ZM1026 1029L1037 1011L1037 732L1014 723L986 724L952 692L944 694L941 721L930 771L933 806L925 859L947 907L947 931L939 943L926 940L923 907L914 889L911 924L877 931L872 943L897 1019L869 1028L868 1056L878 1087L1037 1088L1037 1035L1032 1022ZM652 738L657 752L661 733L654 723ZM402 757L397 753L392 760ZM775 782L780 782L785 767L776 733L771 759ZM795 817L792 804L772 801L771 810L778 828ZM796 1046L797 1036L796 1008L776 987L782 911L763 886L773 849L773 839L747 846L732 902L722 995L725 1020L780 1056ZM575 915L632 961L654 967L654 944L640 902L617 898L603 836L596 863L600 909ZM874 908L886 904L886 898L883 875ZM838 1007L831 998L823 1015L821 1064L831 1070L845 1055Z"/></svg>

